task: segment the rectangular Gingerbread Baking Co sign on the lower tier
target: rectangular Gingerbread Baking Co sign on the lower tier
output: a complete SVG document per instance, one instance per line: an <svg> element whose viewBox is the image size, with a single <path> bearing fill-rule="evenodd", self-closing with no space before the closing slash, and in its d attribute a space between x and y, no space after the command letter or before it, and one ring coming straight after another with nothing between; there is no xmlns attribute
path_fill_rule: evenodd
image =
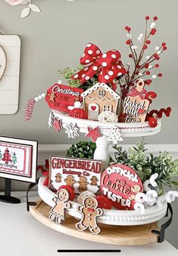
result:
<svg viewBox="0 0 178 256"><path fill-rule="evenodd" d="M51 156L48 188L70 185L74 191L96 193L100 186L101 161Z"/></svg>

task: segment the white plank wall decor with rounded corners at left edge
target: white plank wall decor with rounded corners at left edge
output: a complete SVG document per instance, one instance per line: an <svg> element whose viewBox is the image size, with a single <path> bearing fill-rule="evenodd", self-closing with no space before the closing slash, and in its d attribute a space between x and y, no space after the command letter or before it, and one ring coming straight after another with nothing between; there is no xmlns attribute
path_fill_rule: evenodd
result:
<svg viewBox="0 0 178 256"><path fill-rule="evenodd" d="M15 114L18 109L20 37L0 35L0 114Z"/></svg>

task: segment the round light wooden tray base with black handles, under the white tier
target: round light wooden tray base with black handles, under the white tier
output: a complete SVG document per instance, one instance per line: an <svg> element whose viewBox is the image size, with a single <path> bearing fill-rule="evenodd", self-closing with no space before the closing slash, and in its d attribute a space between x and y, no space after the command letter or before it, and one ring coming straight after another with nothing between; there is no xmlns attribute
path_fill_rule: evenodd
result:
<svg viewBox="0 0 178 256"><path fill-rule="evenodd" d="M151 233L151 230L158 229L158 223L150 223L140 226L109 226L99 224L101 232L98 235L89 231L81 232L76 229L78 222L72 216L67 216L63 224L58 225L48 219L48 212L51 210L45 202L37 201L36 206L30 206L30 213L39 220L40 223L55 229L66 235L71 235L80 239L92 242L101 242L111 245L146 245L158 242L158 236Z"/></svg>

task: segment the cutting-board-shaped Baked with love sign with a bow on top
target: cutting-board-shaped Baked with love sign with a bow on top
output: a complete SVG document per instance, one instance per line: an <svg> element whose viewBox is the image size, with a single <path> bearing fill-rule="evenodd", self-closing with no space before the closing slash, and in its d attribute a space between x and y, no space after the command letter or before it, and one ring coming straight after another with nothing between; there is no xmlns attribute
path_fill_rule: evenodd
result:
<svg viewBox="0 0 178 256"><path fill-rule="evenodd" d="M131 88L130 93L123 100L119 122L144 122L148 112L149 100L145 99L147 91L143 89L145 83L142 79L136 87Z"/></svg>

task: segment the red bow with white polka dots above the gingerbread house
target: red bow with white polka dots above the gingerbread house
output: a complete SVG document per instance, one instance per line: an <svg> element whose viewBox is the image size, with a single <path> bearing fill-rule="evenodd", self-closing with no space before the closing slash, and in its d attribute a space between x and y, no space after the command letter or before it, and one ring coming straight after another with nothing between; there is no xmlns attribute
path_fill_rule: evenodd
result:
<svg viewBox="0 0 178 256"><path fill-rule="evenodd" d="M83 56L80 58L80 63L87 66L71 78L78 79L80 84L83 84L98 73L98 82L111 84L116 90L114 78L126 74L120 56L120 52L117 50L110 50L102 54L98 46L88 43Z"/></svg>

